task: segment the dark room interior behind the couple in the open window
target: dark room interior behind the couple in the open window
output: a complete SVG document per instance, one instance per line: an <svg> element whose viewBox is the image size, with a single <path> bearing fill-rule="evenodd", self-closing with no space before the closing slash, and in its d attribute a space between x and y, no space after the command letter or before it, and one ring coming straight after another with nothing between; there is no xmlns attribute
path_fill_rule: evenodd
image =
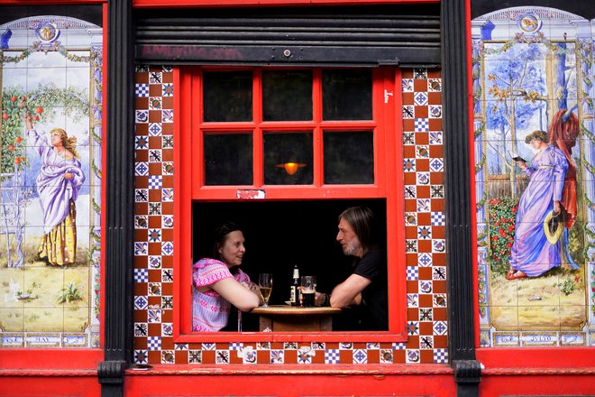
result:
<svg viewBox="0 0 595 397"><path fill-rule="evenodd" d="M359 205L374 212L379 245L386 246L384 199L195 202L193 261L212 256L215 226L232 221L242 227L246 241L243 272L252 282L258 282L261 272L273 274L270 304L282 305L288 300L295 264L300 276L316 276L317 291L330 292L352 272L352 257L345 256L335 241L338 216L345 208ZM236 319L232 311L225 330L236 330ZM254 330L258 330L257 319L244 313L243 331Z"/></svg>

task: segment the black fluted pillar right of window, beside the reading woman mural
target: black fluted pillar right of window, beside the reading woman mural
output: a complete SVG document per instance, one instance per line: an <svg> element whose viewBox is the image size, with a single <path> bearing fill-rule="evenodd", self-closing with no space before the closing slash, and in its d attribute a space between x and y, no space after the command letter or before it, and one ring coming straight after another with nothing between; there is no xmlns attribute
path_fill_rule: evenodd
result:
<svg viewBox="0 0 595 397"><path fill-rule="evenodd" d="M449 282L449 357L458 396L479 393L481 366L475 359L473 326L469 112L466 1L442 0L443 130L446 239Z"/></svg>

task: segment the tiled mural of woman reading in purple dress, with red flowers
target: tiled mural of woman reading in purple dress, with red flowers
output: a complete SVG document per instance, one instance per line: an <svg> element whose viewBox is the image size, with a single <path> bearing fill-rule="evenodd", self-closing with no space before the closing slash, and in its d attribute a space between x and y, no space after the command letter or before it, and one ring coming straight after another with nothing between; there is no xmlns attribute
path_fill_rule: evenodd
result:
<svg viewBox="0 0 595 397"><path fill-rule="evenodd" d="M595 20L471 23L481 346L593 346Z"/></svg>

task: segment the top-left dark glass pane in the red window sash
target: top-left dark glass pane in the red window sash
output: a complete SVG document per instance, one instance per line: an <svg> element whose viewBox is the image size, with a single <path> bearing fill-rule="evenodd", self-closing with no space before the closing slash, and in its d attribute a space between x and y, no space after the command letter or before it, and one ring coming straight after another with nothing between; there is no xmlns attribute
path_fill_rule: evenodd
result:
<svg viewBox="0 0 595 397"><path fill-rule="evenodd" d="M205 121L252 121L252 71L205 72Z"/></svg>

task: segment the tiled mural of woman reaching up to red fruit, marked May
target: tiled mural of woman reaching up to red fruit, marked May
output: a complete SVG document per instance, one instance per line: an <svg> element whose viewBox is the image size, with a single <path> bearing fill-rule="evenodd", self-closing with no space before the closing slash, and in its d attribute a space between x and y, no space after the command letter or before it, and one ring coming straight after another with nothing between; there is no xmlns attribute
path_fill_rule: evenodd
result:
<svg viewBox="0 0 595 397"><path fill-rule="evenodd" d="M99 346L102 28L0 33L1 346Z"/></svg>

